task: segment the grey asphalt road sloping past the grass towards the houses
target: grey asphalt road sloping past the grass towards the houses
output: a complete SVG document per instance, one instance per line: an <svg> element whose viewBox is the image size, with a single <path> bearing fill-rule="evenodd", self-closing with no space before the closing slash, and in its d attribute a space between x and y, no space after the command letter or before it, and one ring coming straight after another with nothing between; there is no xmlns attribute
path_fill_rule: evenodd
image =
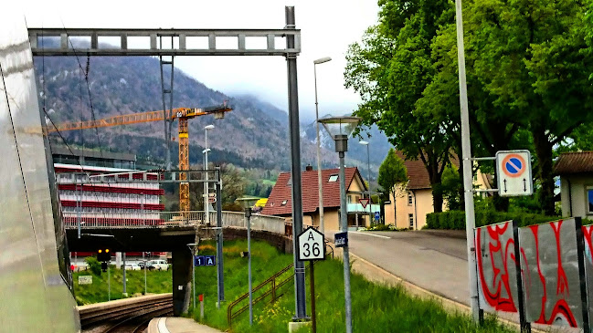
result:
<svg viewBox="0 0 593 333"><path fill-rule="evenodd" d="M327 232L329 239L334 233ZM469 305L464 231L349 232L350 252L442 297Z"/></svg>

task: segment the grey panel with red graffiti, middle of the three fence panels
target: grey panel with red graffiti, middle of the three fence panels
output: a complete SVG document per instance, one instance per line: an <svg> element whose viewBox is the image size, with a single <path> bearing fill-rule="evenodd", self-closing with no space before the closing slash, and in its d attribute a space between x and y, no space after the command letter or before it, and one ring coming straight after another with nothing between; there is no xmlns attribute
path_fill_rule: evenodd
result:
<svg viewBox="0 0 593 333"><path fill-rule="evenodd" d="M520 228L519 244L527 321L582 327L575 220Z"/></svg>

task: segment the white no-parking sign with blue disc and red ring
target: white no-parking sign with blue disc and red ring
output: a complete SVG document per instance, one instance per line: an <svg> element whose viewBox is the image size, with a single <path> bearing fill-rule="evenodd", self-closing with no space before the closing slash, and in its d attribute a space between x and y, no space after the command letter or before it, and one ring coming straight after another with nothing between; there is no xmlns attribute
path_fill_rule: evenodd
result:
<svg viewBox="0 0 593 333"><path fill-rule="evenodd" d="M497 151L496 177L500 196L533 194L534 182L529 151Z"/></svg>

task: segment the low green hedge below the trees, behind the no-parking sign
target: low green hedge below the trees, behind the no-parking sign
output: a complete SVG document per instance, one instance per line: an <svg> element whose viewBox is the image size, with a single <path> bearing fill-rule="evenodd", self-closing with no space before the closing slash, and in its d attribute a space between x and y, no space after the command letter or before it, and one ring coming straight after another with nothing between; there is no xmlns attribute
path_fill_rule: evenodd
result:
<svg viewBox="0 0 593 333"><path fill-rule="evenodd" d="M546 216L537 213L507 213L495 211L476 211L476 226L498 224L500 222L514 220L519 226L542 224L556 221L558 216ZM428 213L426 215L427 229L465 229L465 212L448 211L442 213Z"/></svg>

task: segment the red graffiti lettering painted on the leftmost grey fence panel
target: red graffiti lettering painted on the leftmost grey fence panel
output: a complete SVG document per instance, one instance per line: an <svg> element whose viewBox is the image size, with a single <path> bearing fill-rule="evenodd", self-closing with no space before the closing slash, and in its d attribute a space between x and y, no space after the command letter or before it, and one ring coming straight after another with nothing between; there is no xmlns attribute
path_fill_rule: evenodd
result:
<svg viewBox="0 0 593 333"><path fill-rule="evenodd" d="M511 223L495 224L485 227L488 234L484 236L488 237L488 253L490 256L490 262L486 263L483 261L483 252L480 246L482 243L482 229L479 228L476 233L476 256L478 259L478 269L480 270L480 285L482 289L482 295L486 302L498 311L506 312L517 312L513 294L511 292L511 285L509 283L509 272L508 264L515 265L514 257L514 239L510 238L506 241L503 246L501 236L506 232L507 228ZM500 267L497 266L495 258L500 257ZM508 259L511 259L510 262ZM492 266L492 281L487 281L484 276L484 265ZM500 264L499 264L500 265Z"/></svg>

